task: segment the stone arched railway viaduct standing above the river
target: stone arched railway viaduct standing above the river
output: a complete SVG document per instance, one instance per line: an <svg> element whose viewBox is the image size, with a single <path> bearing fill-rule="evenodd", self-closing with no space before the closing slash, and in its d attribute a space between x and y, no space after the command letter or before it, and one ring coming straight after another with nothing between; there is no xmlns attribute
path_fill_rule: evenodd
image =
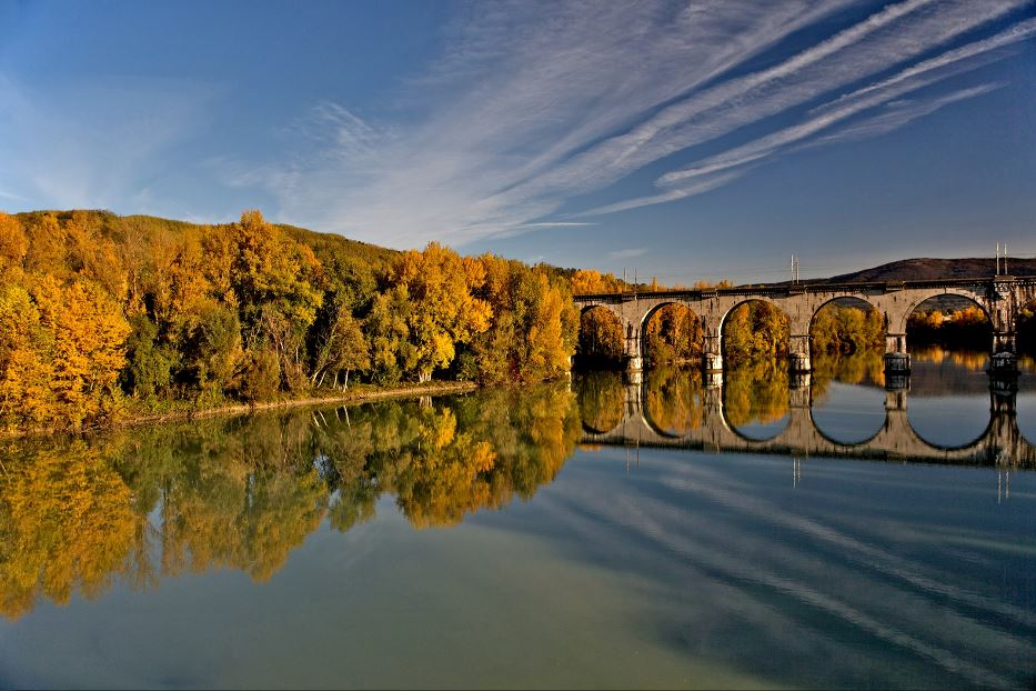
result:
<svg viewBox="0 0 1036 691"><path fill-rule="evenodd" d="M575 296L581 312L595 308L611 311L622 324L624 357L630 372L640 372L645 362L644 337L647 322L666 304L682 304L702 320L705 332L703 367L707 372L723 370L723 323L731 311L744 302L768 302L788 318L789 367L808 372L811 367L809 329L817 312L826 304L856 299L878 311L885 320L885 368L908 372L906 322L917 306L939 296L959 296L977 304L993 324L990 354L994 367L1015 368L1015 324L1019 310L1036 300L1036 277L888 281L872 283L779 283L741 286L713 290L678 290Z"/></svg>

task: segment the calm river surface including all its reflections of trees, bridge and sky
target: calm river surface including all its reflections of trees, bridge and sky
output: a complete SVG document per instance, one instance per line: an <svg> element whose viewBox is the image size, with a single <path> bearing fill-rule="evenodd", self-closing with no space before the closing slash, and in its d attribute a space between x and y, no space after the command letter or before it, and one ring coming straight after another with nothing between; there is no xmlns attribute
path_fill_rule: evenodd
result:
<svg viewBox="0 0 1036 691"><path fill-rule="evenodd" d="M816 367L9 445L0 684L1033 687L1032 364Z"/></svg>

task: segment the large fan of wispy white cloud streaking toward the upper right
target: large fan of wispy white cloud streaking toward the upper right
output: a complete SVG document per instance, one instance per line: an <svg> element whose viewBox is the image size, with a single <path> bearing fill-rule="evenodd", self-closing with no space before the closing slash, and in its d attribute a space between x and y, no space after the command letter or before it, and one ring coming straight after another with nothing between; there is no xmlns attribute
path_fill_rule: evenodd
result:
<svg viewBox="0 0 1036 691"><path fill-rule="evenodd" d="M294 126L294 159L231 167L228 180L266 189L284 220L393 246L563 231L567 218L715 189L867 110L887 107L843 137L891 131L980 96L992 86L891 106L1030 37L1019 22L947 49L1026 2L903 0L801 46L804 29L849 4L476 4L450 28L442 59L400 97L420 116L381 123L320 103ZM764 51L788 57L748 69ZM808 108L788 127L789 112ZM774 120L783 121L768 126ZM754 139L678 167L656 193L557 213L580 194L750 127Z"/></svg>

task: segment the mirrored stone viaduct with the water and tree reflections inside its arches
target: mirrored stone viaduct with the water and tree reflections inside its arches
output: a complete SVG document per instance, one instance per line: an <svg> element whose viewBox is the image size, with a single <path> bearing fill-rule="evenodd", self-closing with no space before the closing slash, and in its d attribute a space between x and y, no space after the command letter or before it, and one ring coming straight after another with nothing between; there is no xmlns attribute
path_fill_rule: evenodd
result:
<svg viewBox="0 0 1036 691"><path fill-rule="evenodd" d="M923 361L916 377L881 387L879 352L816 363L812 377L789 380L781 362L753 362L725 372L722 387L673 369L651 372L643 385L597 374L593 390L611 393L595 398L595 414L613 425L584 425L584 442L1036 467L1013 388L990 387L980 370L950 361L938 363L948 373L932 371Z"/></svg>

